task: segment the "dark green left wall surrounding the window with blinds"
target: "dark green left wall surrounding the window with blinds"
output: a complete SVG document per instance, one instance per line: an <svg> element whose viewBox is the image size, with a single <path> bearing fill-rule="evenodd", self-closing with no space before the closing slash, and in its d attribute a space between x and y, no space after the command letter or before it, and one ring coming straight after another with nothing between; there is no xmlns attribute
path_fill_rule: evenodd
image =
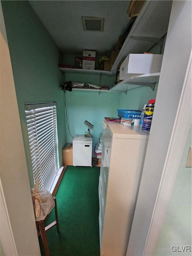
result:
<svg viewBox="0 0 192 256"><path fill-rule="evenodd" d="M65 110L64 94L59 89L63 81L63 74L58 69L58 63L62 62L62 53L28 1L2 1L1 3L30 185L33 186L24 104L47 101L57 102L59 164L61 166L62 147L65 144ZM10 148L10 154L13 153Z"/></svg>

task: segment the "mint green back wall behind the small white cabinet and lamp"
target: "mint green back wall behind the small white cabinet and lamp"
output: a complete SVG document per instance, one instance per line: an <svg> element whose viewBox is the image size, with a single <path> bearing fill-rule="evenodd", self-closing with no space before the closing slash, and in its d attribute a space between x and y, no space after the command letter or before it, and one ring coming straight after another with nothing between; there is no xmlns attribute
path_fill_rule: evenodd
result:
<svg viewBox="0 0 192 256"><path fill-rule="evenodd" d="M99 85L98 75L66 74L66 81L92 82ZM101 77L101 85L111 86L114 77ZM64 93L64 92L63 92ZM104 117L117 117L117 109L142 109L149 99L156 98L157 86L154 91L149 87L139 87L125 93L106 93L72 91L66 92L66 107L68 123L71 135L84 134L87 120L94 125L92 132L93 145L102 132L102 121ZM66 141L72 143L73 138L69 135L66 123Z"/></svg>

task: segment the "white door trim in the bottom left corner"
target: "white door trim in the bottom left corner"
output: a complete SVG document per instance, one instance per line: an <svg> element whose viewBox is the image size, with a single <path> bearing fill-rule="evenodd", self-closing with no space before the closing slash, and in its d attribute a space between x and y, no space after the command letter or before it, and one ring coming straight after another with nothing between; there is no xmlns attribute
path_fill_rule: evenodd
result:
<svg viewBox="0 0 192 256"><path fill-rule="evenodd" d="M5 196L0 178L0 240L2 249L5 255L17 256L17 249L15 246L15 240L9 220L9 214L7 205L5 202Z"/></svg>

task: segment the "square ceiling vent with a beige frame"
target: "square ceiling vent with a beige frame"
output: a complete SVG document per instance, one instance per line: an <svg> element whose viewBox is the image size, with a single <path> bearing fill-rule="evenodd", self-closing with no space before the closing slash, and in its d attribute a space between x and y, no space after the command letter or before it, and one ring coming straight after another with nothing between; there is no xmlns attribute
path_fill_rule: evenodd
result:
<svg viewBox="0 0 192 256"><path fill-rule="evenodd" d="M104 18L99 17L81 17L84 31L103 32Z"/></svg>

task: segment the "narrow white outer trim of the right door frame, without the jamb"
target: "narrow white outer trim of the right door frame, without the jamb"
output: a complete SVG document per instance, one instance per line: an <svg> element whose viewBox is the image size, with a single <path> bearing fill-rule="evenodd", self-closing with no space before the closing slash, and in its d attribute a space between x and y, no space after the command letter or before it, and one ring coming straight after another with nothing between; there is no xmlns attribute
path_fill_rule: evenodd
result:
<svg viewBox="0 0 192 256"><path fill-rule="evenodd" d="M143 255L146 256L154 255L191 127L191 70L192 52L187 66L157 199L145 243Z"/></svg>

